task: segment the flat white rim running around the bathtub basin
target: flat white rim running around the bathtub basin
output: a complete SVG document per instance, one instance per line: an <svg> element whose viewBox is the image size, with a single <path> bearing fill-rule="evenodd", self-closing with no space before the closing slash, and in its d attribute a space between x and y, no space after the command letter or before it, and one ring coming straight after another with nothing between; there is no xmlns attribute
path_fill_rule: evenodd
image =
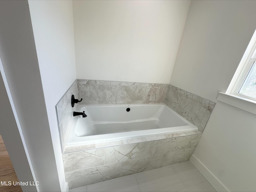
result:
<svg viewBox="0 0 256 192"><path fill-rule="evenodd" d="M76 136L75 128L74 128L77 121L81 118L78 116L77 118L74 118L73 123L71 125L70 132L69 132L68 138L66 140L66 147L64 149L64 153L66 153L66 151L67 151L66 149L68 149L68 148L74 148L74 151L79 151L82 149L78 149L78 148L81 148L82 146L84 146L84 147L90 146L92 148L95 148L95 144L107 143L107 142L118 142L118 141L123 141L123 140L136 140L136 139L142 140L142 141L147 141L146 138L150 138L150 137L159 137L160 139L164 139L164 138L170 138L167 135L171 135L171 134L179 135L179 133L180 133L180 136L186 136L186 134L185 134L186 132L194 132L194 134L201 134L201 132L198 131L198 128L194 124L192 124L191 122L186 120L184 117L182 117L180 114L175 112L173 109L171 109L169 106L167 106L164 103L160 103L160 104L159 103L157 103L157 104L88 104L88 105L83 104L83 105L79 105L77 109L81 110L82 107L102 107L102 106L115 107L115 106L145 106L145 105L147 105L147 106L150 106L150 105L165 106L168 108L168 110L171 110L172 112L174 112L174 114L178 115L179 118L184 120L187 123L187 125L172 127L172 130L167 130L170 128L159 128L159 129L157 129L159 133L156 133L155 131L152 131L152 130L138 130L138 131L130 131L130 132L110 133L110 134L80 136L79 137L79 136ZM148 134L144 134L145 131L147 131ZM134 132L136 132L136 133L134 133ZM164 138L160 137L163 135L165 136ZM102 138L96 139L96 137L99 137L99 136ZM84 138L84 137L87 137L90 140L87 140L87 141L82 140L82 138ZM78 138L78 140L74 141L74 138L76 138L76 139ZM93 145L94 145L94 147L93 147Z"/></svg>

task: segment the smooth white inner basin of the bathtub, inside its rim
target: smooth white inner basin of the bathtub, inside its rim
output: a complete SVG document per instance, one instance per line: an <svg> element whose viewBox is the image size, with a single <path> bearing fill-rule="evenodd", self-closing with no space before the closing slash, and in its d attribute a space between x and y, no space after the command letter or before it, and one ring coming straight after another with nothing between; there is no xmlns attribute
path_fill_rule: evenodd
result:
<svg viewBox="0 0 256 192"><path fill-rule="evenodd" d="M127 110L128 109L128 110ZM86 118L74 122L76 136L91 136L186 126L188 123L165 105L80 106Z"/></svg>

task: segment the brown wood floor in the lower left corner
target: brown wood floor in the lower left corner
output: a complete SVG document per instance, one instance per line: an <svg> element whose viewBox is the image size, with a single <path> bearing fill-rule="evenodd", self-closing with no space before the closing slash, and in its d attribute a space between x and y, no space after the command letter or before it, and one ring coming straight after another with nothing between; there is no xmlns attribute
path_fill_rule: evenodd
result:
<svg viewBox="0 0 256 192"><path fill-rule="evenodd" d="M7 186L3 184L4 181ZM0 192L22 192L20 186L12 185L15 181L18 182L18 178L0 135ZM11 182L10 186L8 186L8 182Z"/></svg>

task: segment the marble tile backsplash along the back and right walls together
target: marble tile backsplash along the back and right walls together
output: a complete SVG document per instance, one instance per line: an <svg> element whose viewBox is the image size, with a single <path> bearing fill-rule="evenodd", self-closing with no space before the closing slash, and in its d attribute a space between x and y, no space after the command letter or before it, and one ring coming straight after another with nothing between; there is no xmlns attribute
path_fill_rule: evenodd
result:
<svg viewBox="0 0 256 192"><path fill-rule="evenodd" d="M201 132L215 103L170 84L77 80L79 104L165 103Z"/></svg>

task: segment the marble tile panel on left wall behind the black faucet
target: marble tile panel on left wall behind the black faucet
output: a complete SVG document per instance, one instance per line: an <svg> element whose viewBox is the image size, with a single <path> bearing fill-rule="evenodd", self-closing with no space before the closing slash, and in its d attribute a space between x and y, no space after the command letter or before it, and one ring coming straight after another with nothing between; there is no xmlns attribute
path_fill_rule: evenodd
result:
<svg viewBox="0 0 256 192"><path fill-rule="evenodd" d="M71 106L72 95L77 98L77 80L74 81L74 83L62 96L62 98L60 98L59 102L55 106L56 114L58 117L58 128L60 133L62 152L65 149L66 139L73 122L73 111L76 110L76 104L74 108Z"/></svg>

